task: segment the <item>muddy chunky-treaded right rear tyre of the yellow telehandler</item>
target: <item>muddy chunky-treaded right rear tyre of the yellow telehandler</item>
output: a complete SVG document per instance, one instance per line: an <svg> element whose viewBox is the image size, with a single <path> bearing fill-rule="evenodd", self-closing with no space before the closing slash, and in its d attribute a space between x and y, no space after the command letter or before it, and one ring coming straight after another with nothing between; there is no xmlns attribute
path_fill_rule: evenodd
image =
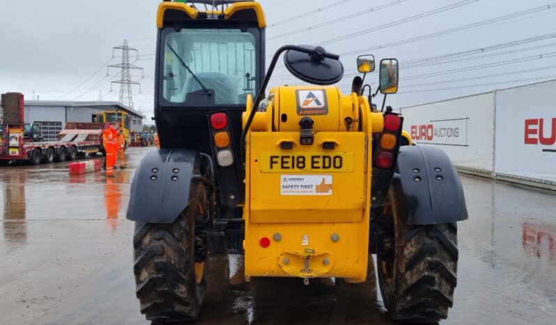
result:
<svg viewBox="0 0 556 325"><path fill-rule="evenodd" d="M377 273L385 307L401 322L446 319L457 282L456 224L405 225L397 202L391 189L380 216Z"/></svg>

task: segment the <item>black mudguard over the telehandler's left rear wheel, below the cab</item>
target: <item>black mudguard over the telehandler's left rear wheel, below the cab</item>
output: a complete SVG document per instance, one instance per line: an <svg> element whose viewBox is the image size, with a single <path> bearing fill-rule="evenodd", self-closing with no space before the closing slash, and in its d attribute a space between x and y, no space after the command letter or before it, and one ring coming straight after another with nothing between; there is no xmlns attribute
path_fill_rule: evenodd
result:
<svg viewBox="0 0 556 325"><path fill-rule="evenodd" d="M131 184L128 220L171 223L190 203L199 183L201 154L187 149L149 151ZM177 177L177 178L176 178Z"/></svg>

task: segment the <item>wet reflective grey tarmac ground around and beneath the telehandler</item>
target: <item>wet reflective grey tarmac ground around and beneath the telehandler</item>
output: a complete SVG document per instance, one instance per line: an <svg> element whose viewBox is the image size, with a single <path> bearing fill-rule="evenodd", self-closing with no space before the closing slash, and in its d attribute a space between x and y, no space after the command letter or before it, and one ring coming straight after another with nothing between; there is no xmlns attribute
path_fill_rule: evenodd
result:
<svg viewBox="0 0 556 325"><path fill-rule="evenodd" d="M0 166L0 324L149 324L132 273L128 169L68 175L68 163ZM454 308L441 324L556 324L556 192L461 176ZM392 324L376 276L242 282L242 258L210 260L196 324Z"/></svg>

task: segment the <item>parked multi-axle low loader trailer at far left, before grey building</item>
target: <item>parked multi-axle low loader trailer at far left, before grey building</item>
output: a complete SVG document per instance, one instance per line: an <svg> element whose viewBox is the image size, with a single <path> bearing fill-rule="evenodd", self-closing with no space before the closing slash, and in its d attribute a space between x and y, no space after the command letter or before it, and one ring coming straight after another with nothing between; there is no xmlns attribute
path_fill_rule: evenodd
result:
<svg viewBox="0 0 556 325"><path fill-rule="evenodd" d="M68 122L58 141L45 142L40 136L40 125L24 122L22 93L3 93L1 107L0 160L29 161L39 165L104 152L103 123Z"/></svg>

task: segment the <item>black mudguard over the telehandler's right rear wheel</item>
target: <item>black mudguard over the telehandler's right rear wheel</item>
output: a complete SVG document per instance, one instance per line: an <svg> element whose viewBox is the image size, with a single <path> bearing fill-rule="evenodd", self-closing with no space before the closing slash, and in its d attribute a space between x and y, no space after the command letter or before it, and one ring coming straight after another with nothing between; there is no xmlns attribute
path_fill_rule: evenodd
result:
<svg viewBox="0 0 556 325"><path fill-rule="evenodd" d="M468 218L463 187L446 153L432 146L402 146L393 182L408 225Z"/></svg>

